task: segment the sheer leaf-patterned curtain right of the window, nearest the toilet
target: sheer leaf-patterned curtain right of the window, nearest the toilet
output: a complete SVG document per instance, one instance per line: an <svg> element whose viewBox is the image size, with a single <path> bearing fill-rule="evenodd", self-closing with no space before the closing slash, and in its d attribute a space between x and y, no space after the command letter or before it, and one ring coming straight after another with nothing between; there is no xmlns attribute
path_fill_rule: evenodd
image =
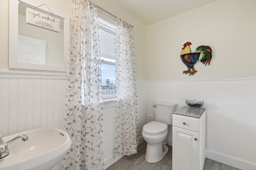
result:
<svg viewBox="0 0 256 170"><path fill-rule="evenodd" d="M138 112L132 27L116 18L116 151L137 152Z"/></svg>

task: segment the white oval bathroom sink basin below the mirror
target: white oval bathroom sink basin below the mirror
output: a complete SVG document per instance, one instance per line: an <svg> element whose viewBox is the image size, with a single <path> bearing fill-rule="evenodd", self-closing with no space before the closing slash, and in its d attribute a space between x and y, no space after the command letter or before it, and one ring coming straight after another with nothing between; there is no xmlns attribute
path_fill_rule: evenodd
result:
<svg viewBox="0 0 256 170"><path fill-rule="evenodd" d="M39 128L3 137L9 141L26 134L27 141L17 139L8 145L9 152L0 159L0 170L50 170L71 147L69 135L57 128Z"/></svg>

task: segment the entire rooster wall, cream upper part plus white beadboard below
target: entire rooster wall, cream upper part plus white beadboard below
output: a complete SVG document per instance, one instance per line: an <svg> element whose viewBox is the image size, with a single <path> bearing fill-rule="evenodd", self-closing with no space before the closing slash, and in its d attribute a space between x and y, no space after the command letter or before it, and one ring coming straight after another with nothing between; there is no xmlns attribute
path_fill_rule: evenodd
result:
<svg viewBox="0 0 256 170"><path fill-rule="evenodd" d="M255 30L256 0L219 0L146 27L148 113L154 100L176 109L204 100L206 156L243 170L256 169ZM193 76L182 74L187 41L192 52L213 51L210 66L198 61Z"/></svg>

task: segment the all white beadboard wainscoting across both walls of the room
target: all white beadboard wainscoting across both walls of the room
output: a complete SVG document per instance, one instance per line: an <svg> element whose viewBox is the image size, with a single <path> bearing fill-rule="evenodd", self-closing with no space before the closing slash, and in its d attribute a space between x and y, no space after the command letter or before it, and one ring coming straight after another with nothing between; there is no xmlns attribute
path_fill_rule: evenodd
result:
<svg viewBox="0 0 256 170"><path fill-rule="evenodd" d="M0 134L40 127L64 129L66 74L0 71ZM243 170L256 169L256 76L137 80L140 143L153 101L204 100L206 157ZM116 162L115 105L103 104L104 168ZM171 126L168 143L172 140ZM52 170L61 170L61 163Z"/></svg>

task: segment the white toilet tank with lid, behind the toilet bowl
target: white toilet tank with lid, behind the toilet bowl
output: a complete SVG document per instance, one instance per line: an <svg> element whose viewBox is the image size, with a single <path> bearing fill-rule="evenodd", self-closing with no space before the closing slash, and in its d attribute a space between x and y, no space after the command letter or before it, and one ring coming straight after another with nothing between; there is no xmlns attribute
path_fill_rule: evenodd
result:
<svg viewBox="0 0 256 170"><path fill-rule="evenodd" d="M176 103L154 101L155 121L172 125L172 113L175 111Z"/></svg>

